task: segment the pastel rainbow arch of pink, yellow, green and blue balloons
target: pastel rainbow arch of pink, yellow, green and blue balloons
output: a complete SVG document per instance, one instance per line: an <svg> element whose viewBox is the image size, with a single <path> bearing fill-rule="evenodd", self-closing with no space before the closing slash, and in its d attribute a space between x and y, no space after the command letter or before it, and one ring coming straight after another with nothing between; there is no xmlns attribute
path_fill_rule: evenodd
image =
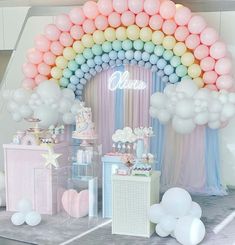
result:
<svg viewBox="0 0 235 245"><path fill-rule="evenodd" d="M97 73L133 64L169 84L192 80L199 89L229 91L234 81L226 55L216 30L172 1L88 1L57 16L36 37L23 65L23 87L35 89L52 80L82 99L84 86Z"/></svg>

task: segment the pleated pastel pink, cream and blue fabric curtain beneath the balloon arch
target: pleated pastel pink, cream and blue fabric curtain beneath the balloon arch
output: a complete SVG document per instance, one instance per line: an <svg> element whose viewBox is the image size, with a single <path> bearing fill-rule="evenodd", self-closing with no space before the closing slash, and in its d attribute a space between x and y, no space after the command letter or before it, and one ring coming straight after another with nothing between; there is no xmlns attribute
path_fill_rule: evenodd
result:
<svg viewBox="0 0 235 245"><path fill-rule="evenodd" d="M129 71L130 79L147 82L147 88L110 91L108 80L114 71ZM116 129L151 126L154 137L150 151L157 156L155 169L162 172L162 191L178 186L191 193L226 194L220 179L218 132L197 127L190 135L179 135L171 125L163 126L150 118L150 96L164 87L156 73L129 65L102 72L87 84L85 101L92 108L103 154L111 151L111 138Z"/></svg>

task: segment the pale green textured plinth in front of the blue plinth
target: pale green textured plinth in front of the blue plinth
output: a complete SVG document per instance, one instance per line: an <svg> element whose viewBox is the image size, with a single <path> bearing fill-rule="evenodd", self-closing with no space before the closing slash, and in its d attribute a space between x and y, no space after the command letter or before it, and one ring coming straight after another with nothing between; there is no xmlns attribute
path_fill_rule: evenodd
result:
<svg viewBox="0 0 235 245"><path fill-rule="evenodd" d="M112 234L151 237L155 231L148 210L159 203L160 172L150 177L112 177Z"/></svg>

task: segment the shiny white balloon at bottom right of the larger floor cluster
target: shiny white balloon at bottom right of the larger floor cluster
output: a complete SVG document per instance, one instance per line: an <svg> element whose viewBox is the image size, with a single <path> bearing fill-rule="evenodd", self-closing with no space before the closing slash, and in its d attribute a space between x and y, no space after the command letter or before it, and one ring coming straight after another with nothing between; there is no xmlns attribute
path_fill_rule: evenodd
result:
<svg viewBox="0 0 235 245"><path fill-rule="evenodd" d="M205 237L205 233L205 226L198 218L185 216L176 223L176 240L183 245L199 244Z"/></svg>

